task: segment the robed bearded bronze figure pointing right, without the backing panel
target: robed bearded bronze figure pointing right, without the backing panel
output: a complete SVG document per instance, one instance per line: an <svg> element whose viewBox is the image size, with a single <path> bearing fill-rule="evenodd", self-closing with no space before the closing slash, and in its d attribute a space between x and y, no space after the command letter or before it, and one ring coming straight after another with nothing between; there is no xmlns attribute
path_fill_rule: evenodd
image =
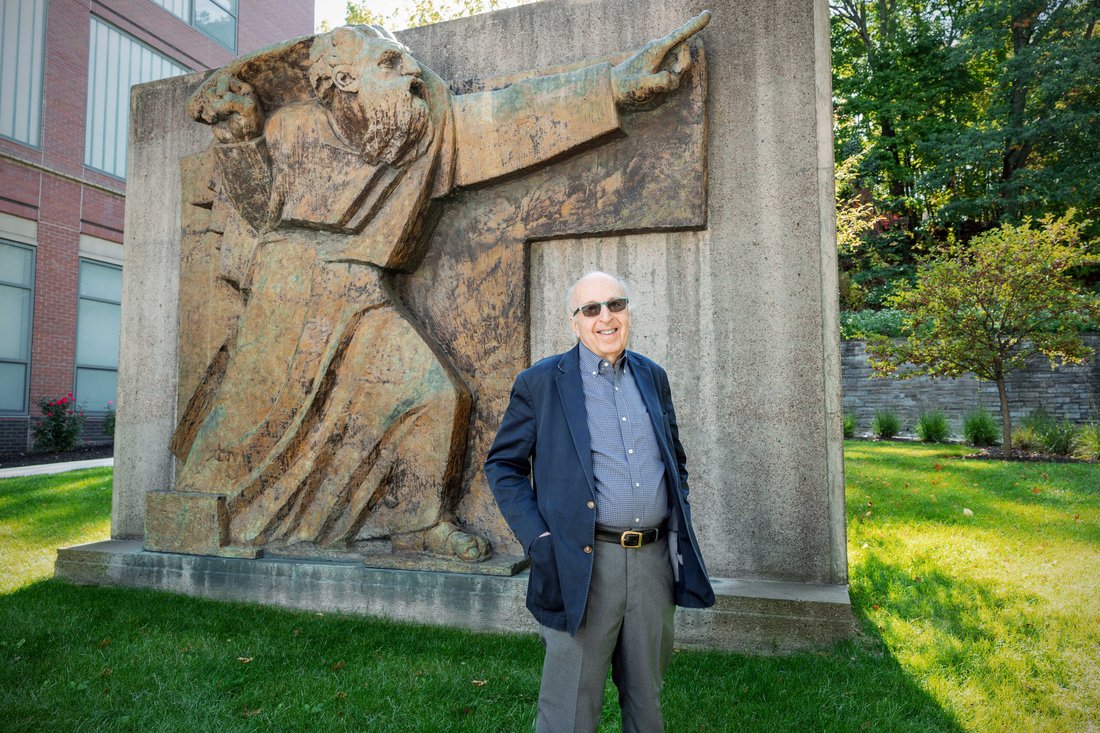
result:
<svg viewBox="0 0 1100 733"><path fill-rule="evenodd" d="M173 450L176 491L226 497L226 545L388 538L464 561L490 555L453 515L472 395L389 278L416 270L457 188L580 149L616 131L619 110L660 103L708 20L616 66L487 92L452 94L363 25L207 79L188 111L212 125L220 195L241 222L223 236L221 277L242 305Z"/></svg>

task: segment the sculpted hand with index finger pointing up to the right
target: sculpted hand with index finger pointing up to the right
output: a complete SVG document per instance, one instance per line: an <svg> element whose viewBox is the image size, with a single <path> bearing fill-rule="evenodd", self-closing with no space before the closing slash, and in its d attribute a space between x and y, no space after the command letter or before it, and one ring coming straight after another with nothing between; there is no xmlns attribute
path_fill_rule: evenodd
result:
<svg viewBox="0 0 1100 733"><path fill-rule="evenodd" d="M664 95L680 86L680 78L691 68L686 41L706 28L711 11L704 10L663 39L650 41L635 55L612 69L615 103L626 109L646 109L661 102ZM661 69L666 58L675 58Z"/></svg>

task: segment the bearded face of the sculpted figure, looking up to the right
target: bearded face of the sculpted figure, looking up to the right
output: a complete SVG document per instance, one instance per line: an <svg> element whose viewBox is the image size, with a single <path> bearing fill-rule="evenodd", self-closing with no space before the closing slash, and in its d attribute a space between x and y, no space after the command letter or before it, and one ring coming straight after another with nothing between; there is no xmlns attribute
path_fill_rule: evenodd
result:
<svg viewBox="0 0 1100 733"><path fill-rule="evenodd" d="M408 51L384 39L370 39L354 64L336 69L332 111L371 163L403 163L429 129L420 77Z"/></svg>

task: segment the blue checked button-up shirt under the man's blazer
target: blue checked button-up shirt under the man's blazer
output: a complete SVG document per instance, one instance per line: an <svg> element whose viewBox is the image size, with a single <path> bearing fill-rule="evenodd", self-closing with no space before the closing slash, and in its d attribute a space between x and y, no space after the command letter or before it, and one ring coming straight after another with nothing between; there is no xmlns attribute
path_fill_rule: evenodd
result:
<svg viewBox="0 0 1100 733"><path fill-rule="evenodd" d="M669 516L664 462L627 355L613 366L580 348L596 524L612 529L656 527Z"/></svg>

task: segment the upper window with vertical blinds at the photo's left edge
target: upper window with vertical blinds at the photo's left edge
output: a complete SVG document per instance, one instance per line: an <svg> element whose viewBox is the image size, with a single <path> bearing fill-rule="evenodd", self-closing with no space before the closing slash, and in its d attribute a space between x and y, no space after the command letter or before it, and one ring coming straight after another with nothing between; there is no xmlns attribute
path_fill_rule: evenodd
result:
<svg viewBox="0 0 1100 733"><path fill-rule="evenodd" d="M0 4L0 136L42 142L42 69L46 0Z"/></svg>

